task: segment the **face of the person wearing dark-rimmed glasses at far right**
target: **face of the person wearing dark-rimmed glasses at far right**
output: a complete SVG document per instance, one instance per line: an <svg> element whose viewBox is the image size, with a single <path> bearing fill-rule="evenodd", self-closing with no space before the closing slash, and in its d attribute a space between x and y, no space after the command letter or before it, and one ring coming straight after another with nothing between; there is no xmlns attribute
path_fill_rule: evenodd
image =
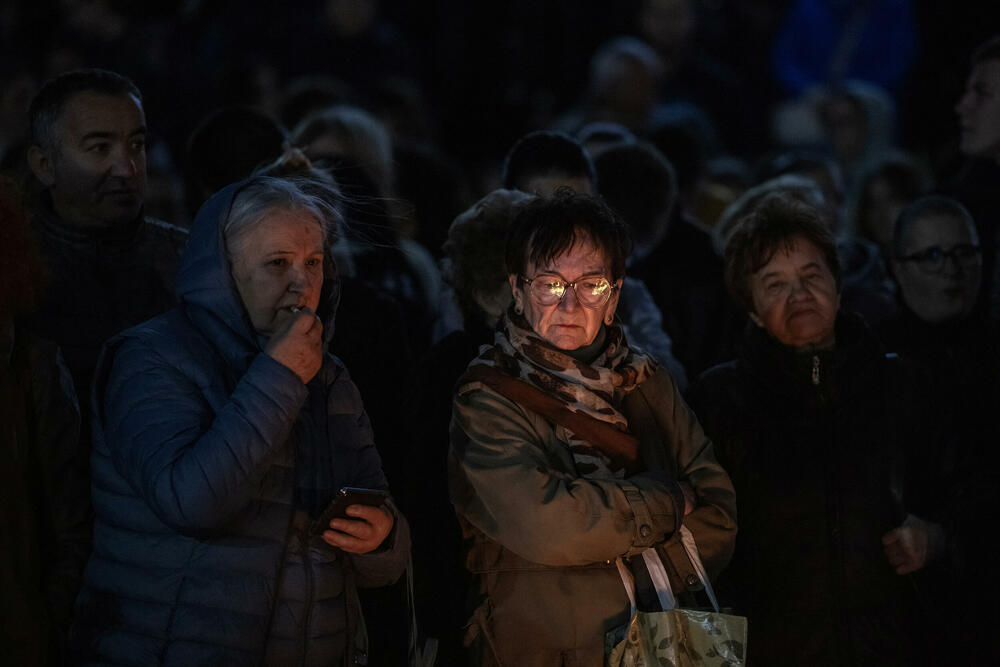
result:
<svg viewBox="0 0 1000 667"><path fill-rule="evenodd" d="M928 215L910 225L892 261L906 306L929 324L968 316L982 280L978 245L975 230L954 216Z"/></svg>

